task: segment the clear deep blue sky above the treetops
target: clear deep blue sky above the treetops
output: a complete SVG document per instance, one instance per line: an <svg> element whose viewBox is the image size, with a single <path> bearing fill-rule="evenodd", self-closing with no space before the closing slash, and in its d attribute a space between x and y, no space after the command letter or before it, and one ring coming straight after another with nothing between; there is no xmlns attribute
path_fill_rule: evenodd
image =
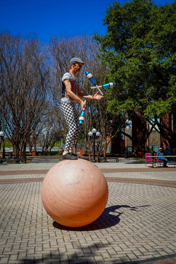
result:
<svg viewBox="0 0 176 264"><path fill-rule="evenodd" d="M0 31L21 36L36 33L47 41L56 35L106 33L102 19L111 0L0 0ZM174 0L155 0L158 6ZM123 4L124 1L120 0Z"/></svg>

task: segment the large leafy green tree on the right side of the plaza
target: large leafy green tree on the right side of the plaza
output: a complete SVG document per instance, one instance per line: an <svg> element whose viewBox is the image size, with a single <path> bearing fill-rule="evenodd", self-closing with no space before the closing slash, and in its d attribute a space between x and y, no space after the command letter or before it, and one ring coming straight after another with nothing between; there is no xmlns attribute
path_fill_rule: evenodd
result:
<svg viewBox="0 0 176 264"><path fill-rule="evenodd" d="M114 2L104 19L107 34L94 36L101 44L102 65L109 67L106 80L117 83L106 94L107 110L116 115L126 112L138 124L140 133L133 131L131 136L136 153L149 150L146 140L156 125L158 133L173 143L172 131L158 117L176 106L175 16L176 3L158 7L148 0L123 6Z"/></svg>

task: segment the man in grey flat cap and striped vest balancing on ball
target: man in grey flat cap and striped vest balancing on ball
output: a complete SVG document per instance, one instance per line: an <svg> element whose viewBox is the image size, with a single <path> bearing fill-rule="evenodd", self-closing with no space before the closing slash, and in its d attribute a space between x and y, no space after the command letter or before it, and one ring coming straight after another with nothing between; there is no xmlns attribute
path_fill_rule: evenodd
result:
<svg viewBox="0 0 176 264"><path fill-rule="evenodd" d="M69 64L69 72L65 72L62 76L61 111L69 128L65 142L65 150L62 154L62 159L66 160L76 160L78 158L72 152L79 134L79 116L75 107L76 103L81 104L81 109L83 110L83 108L86 108L86 102L80 98L84 100L100 100L103 98L102 95L99 95L99 92L93 96L81 92L75 75L77 72L80 72L82 65L84 65L84 62L80 58L72 58Z"/></svg>

